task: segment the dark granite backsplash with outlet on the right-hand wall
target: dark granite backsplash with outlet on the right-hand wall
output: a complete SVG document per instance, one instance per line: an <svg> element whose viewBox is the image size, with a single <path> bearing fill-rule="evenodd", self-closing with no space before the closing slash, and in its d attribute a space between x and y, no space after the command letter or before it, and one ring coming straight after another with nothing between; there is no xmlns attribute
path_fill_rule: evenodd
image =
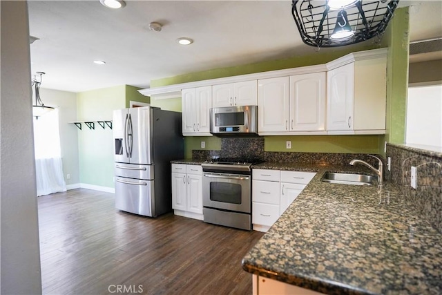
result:
<svg viewBox="0 0 442 295"><path fill-rule="evenodd" d="M442 153L387 144L392 158L387 180L401 187L403 197L419 214L442 233ZM411 187L411 167L416 167L417 187Z"/></svg>

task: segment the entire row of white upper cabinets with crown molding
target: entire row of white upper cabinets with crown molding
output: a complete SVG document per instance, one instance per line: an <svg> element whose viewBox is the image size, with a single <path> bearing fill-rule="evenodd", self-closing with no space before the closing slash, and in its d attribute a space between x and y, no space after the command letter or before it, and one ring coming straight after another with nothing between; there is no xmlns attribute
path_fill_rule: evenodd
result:
<svg viewBox="0 0 442 295"><path fill-rule="evenodd" d="M211 135L212 107L247 105L258 106L260 135L385 134L386 74L387 48L379 48L327 64L140 92L165 99L182 91L183 135Z"/></svg>

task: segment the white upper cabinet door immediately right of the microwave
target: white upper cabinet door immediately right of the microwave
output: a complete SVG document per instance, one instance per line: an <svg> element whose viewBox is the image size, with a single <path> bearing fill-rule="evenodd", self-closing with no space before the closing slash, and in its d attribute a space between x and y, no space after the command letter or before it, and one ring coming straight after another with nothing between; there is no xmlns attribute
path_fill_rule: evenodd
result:
<svg viewBox="0 0 442 295"><path fill-rule="evenodd" d="M258 132L289 131L289 77L258 80Z"/></svg>

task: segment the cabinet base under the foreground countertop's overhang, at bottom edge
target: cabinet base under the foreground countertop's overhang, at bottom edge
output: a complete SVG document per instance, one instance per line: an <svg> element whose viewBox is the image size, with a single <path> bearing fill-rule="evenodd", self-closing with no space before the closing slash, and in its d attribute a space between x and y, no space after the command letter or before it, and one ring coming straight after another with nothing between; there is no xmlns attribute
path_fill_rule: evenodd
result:
<svg viewBox="0 0 442 295"><path fill-rule="evenodd" d="M279 280L272 280L264 276L252 275L253 295L274 295L274 294L290 294L290 295L320 295L310 289L304 289L295 285L282 283Z"/></svg>

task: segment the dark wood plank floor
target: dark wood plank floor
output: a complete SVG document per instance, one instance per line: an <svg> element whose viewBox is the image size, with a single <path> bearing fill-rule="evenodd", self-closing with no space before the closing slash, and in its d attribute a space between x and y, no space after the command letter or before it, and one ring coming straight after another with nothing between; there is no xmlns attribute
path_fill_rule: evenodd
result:
<svg viewBox="0 0 442 295"><path fill-rule="evenodd" d="M124 213L112 193L87 189L38 205L44 294L117 294L117 285L134 294L252 292L241 259L262 233Z"/></svg>

